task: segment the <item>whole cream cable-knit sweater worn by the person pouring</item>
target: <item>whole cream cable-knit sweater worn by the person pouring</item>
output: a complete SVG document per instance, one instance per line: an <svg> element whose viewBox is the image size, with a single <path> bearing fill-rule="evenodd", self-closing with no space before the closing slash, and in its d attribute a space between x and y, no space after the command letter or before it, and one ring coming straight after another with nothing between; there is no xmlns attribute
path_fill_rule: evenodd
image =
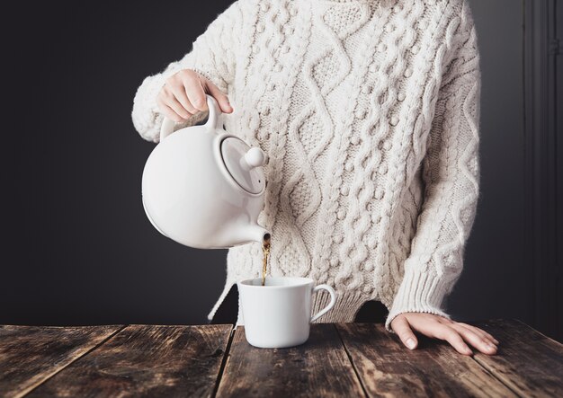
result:
<svg viewBox="0 0 563 398"><path fill-rule="evenodd" d="M157 142L156 94L191 68L228 93L225 128L269 156L259 223L272 276L335 287L318 322L367 300L440 314L479 192L480 70L467 0L238 0L192 50L148 76L132 119ZM228 250L227 281L258 278L261 243ZM329 300L317 294L313 312ZM244 323L239 309L237 324Z"/></svg>

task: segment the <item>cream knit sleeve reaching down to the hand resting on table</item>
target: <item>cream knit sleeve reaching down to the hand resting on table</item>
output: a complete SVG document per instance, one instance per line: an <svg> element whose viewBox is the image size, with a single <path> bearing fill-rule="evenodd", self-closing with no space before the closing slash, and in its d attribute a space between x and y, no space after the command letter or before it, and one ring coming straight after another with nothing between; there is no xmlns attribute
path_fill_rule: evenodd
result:
<svg viewBox="0 0 563 398"><path fill-rule="evenodd" d="M422 162L424 200L403 279L385 327L401 313L439 314L463 268L463 253L477 211L481 76L475 26L467 1L451 38ZM448 38L447 38L448 39Z"/></svg>

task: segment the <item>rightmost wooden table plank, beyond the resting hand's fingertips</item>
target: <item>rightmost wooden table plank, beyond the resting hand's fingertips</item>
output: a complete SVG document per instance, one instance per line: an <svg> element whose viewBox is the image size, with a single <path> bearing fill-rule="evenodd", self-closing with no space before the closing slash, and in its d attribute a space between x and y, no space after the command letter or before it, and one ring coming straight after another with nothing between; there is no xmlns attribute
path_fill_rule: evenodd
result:
<svg viewBox="0 0 563 398"><path fill-rule="evenodd" d="M523 396L563 396L563 344L518 320L474 323L491 333L498 355L475 360Z"/></svg>

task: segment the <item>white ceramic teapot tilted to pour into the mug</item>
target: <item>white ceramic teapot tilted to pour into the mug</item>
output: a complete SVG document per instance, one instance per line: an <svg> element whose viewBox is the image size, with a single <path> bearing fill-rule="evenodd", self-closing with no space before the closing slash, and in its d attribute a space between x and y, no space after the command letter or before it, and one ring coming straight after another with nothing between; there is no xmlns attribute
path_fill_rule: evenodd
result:
<svg viewBox="0 0 563 398"><path fill-rule="evenodd" d="M207 95L204 125L174 131L164 119L160 142L142 177L143 207L156 229L177 243L220 249L263 243L266 155L223 129L218 103Z"/></svg>

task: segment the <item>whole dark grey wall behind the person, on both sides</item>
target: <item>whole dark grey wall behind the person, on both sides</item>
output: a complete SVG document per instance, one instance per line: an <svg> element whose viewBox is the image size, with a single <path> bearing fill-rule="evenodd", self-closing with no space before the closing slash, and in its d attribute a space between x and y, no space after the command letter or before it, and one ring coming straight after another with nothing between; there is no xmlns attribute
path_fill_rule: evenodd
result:
<svg viewBox="0 0 563 398"><path fill-rule="evenodd" d="M142 78L182 57L228 3L13 10L30 31L10 34L12 57L2 66L11 105L1 156L0 323L206 322L227 252L188 249L150 226L140 176L154 145L133 129L130 108ZM482 196L449 310L463 320L528 322L522 4L471 4L483 67Z"/></svg>

